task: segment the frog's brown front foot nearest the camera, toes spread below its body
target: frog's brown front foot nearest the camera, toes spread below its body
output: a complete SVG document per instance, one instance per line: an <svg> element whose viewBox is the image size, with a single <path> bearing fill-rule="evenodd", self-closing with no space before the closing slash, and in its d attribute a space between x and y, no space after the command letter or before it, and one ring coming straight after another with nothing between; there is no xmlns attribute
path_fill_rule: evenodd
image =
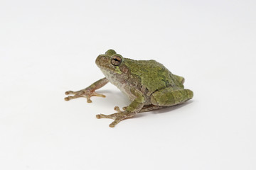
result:
<svg viewBox="0 0 256 170"><path fill-rule="evenodd" d="M135 113L129 113L126 111L120 111L119 107L114 107L114 110L117 111L117 113L113 113L111 115L104 115L104 114L100 114L100 115L96 115L96 118L100 119L100 118L110 118L113 119L114 121L112 123L110 123L110 128L114 128L115 125L117 125L117 123L121 122L124 119L127 118L132 118L134 117L134 115L136 115Z"/></svg>

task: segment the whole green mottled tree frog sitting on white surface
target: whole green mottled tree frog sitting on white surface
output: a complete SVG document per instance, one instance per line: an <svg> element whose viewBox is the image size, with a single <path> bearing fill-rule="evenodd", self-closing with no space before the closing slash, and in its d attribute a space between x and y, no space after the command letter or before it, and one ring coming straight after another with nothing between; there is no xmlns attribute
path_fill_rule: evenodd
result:
<svg viewBox="0 0 256 170"><path fill-rule="evenodd" d="M66 91L65 101L85 97L91 103L92 96L105 97L95 92L107 83L114 84L131 103L122 108L114 107L115 113L98 114L96 118L110 118L110 128L114 128L122 120L133 118L137 113L154 111L161 108L176 106L193 98L193 91L184 89L185 79L172 74L163 64L155 60L132 60L122 57L110 49L99 55L95 63L104 78L80 91Z"/></svg>

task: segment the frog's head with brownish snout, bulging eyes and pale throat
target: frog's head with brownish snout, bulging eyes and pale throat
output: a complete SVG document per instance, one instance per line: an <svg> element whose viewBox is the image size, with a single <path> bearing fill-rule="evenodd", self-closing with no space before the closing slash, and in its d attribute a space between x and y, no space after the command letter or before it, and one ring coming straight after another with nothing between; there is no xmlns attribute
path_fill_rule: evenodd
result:
<svg viewBox="0 0 256 170"><path fill-rule="evenodd" d="M107 50L105 55L99 55L95 62L106 77L114 74L127 73L128 71L124 69L124 57L118 55L114 50Z"/></svg>

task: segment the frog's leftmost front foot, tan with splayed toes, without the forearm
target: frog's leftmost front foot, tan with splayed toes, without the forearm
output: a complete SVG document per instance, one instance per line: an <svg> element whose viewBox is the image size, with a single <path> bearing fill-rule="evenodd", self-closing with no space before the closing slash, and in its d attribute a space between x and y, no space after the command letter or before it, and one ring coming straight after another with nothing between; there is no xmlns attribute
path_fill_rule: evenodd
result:
<svg viewBox="0 0 256 170"><path fill-rule="evenodd" d="M73 98L85 97L87 98L87 103L92 103L90 99L92 96L106 97L105 95L97 94L95 91L91 91L90 89L82 89L80 91L66 91L65 94L73 94L73 96L65 97L65 101L69 101Z"/></svg>

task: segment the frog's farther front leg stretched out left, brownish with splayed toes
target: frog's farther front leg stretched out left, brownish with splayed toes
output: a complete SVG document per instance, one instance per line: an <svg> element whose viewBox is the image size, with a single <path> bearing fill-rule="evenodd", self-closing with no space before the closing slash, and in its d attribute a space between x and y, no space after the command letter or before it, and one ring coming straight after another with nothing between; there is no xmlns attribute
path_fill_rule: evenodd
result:
<svg viewBox="0 0 256 170"><path fill-rule="evenodd" d="M92 85L90 85L87 88L82 89L80 91L66 91L65 92L66 95L73 94L74 96L66 97L65 101L69 101L70 99L73 99L73 98L85 97L85 98L87 98L87 102L91 103L92 101L90 100L90 98L92 96L105 97L105 95L103 95L103 94L97 94L95 92L95 90L100 89L102 86L105 86L105 84L107 84L108 82L109 81L107 80L107 78L103 78L103 79L100 79L100 80L96 81Z"/></svg>

